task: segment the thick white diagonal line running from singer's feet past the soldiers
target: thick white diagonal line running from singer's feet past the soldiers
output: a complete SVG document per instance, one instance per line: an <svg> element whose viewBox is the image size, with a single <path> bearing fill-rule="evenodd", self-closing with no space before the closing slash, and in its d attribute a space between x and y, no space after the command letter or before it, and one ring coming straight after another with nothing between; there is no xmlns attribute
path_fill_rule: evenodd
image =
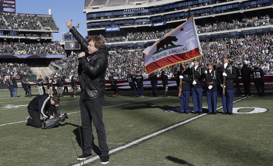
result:
<svg viewBox="0 0 273 166"><path fill-rule="evenodd" d="M236 103L236 102L238 102L238 101L241 101L241 100L243 100L243 99L245 99L245 98L247 98L247 97L243 97L243 98L241 98L241 99L238 99L238 100L236 100L236 101L233 101L233 103ZM216 108L216 110L219 110L219 109L221 109L221 108L223 108L223 106L220 106L220 107ZM158 135L158 134L160 134L160 133L163 133L163 132L166 132L166 131L171 130L171 129L173 129L173 128L176 128L176 127L178 127L178 126L181 126L181 125L183 125L183 124L185 124L185 123L188 123L188 122L190 122L190 121L192 121L192 120L198 119L198 118L200 118L200 117L202 117L202 116L205 116L205 115L207 115L207 114L201 114L201 115L195 116L195 117L190 118L190 119L188 119L188 120L185 120L185 121L183 121L183 122L177 123L177 124L175 124L175 125L173 125L173 126L167 127L167 128L165 128L165 129L163 129L163 130L160 130L160 131L158 131L158 132L155 132L155 133L153 133L153 134L150 134L150 135L148 135L148 136L145 136L145 137L142 137L142 138L140 138L140 139L138 139L138 140L135 140L135 141L133 141L133 142L130 142L129 144L126 144L126 145L123 145L123 146L120 146L120 147L116 147L115 149L110 150L110 151L109 151L109 154L114 153L114 152L116 152L116 151L120 151L120 150L125 149L125 148L127 148L127 147L130 147L130 146L132 146L132 145L138 144L138 143L140 143L140 142L142 142L142 141L144 141L144 140L147 140L147 139L149 139L149 138L151 138L151 137L153 137L153 136L156 136L156 135ZM92 161L95 161L95 160L97 160L97 159L100 159L100 157L99 157L98 155L95 156L95 157L92 157L92 158L90 158L90 159L85 160L85 161L84 161L84 164L91 163ZM81 165L83 165L83 162L82 162L82 161L80 161L78 164L75 164L75 165L73 165L73 166L81 166Z"/></svg>

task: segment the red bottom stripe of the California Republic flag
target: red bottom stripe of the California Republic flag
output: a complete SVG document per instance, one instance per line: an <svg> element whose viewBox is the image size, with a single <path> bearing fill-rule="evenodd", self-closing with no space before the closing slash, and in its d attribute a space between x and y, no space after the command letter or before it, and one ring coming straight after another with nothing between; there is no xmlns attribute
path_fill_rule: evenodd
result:
<svg viewBox="0 0 273 166"><path fill-rule="evenodd" d="M147 70L148 73L150 73L150 72L152 72L154 70L157 70L158 68L167 66L167 65L172 64L172 63L186 61L186 60L189 60L191 58L195 58L195 57L197 57L199 55L200 55L199 49L195 48L195 49L193 49L191 51L188 51L188 52L171 55L171 56L168 56L166 58L162 58L160 60L152 62L152 63L150 63L150 64L148 64L146 66L146 70Z"/></svg>

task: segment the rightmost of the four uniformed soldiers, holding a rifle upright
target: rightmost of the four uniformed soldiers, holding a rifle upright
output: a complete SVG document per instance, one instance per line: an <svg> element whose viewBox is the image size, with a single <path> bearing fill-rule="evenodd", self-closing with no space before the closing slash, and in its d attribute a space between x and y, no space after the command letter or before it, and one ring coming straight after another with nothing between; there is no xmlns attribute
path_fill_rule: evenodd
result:
<svg viewBox="0 0 273 166"><path fill-rule="evenodd" d="M233 115L232 113L233 97L234 97L234 80L233 79L236 77L236 70L233 65L228 63L228 56L224 55L222 57L222 60L223 60L223 65L219 67L222 88L224 88L224 85L223 85L224 77L226 79L225 95L224 95L223 89L221 91L222 103L223 103L223 109L224 109L223 115L226 115L227 113L229 115Z"/></svg>

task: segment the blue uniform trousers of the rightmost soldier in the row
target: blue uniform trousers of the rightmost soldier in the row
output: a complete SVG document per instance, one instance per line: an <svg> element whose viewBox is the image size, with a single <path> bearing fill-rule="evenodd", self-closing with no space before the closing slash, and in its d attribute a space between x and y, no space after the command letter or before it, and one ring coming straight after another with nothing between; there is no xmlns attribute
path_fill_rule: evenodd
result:
<svg viewBox="0 0 273 166"><path fill-rule="evenodd" d="M234 89L226 89L226 96L223 96L223 89L222 89L221 94L222 94L222 104L223 104L224 112L232 113Z"/></svg>

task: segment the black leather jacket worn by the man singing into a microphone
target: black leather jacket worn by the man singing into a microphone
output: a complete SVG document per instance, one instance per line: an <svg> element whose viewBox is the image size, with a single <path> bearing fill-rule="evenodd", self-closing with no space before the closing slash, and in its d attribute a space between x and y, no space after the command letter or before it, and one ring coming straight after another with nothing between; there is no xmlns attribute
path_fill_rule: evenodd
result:
<svg viewBox="0 0 273 166"><path fill-rule="evenodd" d="M88 43L80 33L72 26L69 30L84 50L87 50ZM88 57L78 58L78 75L82 75L82 66L85 68L85 91L84 99L90 100L101 97L105 93L105 72L108 66L108 50L97 50ZM82 86L82 83L81 83Z"/></svg>

